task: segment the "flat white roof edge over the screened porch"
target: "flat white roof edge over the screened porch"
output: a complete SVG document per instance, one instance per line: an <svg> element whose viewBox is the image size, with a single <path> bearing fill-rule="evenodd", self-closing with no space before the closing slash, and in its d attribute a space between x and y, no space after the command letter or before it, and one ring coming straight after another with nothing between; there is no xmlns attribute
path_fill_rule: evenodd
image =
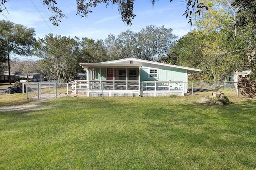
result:
<svg viewBox="0 0 256 170"><path fill-rule="evenodd" d="M84 70L88 70L89 67L94 68L140 68L142 64L105 64L105 63L80 63L80 66Z"/></svg>

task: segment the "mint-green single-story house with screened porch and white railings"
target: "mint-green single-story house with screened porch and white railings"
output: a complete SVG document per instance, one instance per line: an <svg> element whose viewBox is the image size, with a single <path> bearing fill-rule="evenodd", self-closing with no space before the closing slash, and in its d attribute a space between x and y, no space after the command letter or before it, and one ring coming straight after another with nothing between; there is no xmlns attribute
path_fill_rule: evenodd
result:
<svg viewBox="0 0 256 170"><path fill-rule="evenodd" d="M127 58L101 63L80 63L86 80L75 80L72 94L96 96L183 96L188 74L200 69ZM85 87L85 88L81 88Z"/></svg>

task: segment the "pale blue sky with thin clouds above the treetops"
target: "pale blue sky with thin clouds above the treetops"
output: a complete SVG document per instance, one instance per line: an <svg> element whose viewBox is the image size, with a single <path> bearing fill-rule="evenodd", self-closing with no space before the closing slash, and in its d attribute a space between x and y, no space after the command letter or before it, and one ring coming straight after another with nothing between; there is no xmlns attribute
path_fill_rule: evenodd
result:
<svg viewBox="0 0 256 170"><path fill-rule="evenodd" d="M9 20L22 24L26 27L34 27L36 38L44 37L49 33L65 35L70 37L88 37L94 40L105 39L110 33L118 35L122 31L140 31L147 25L164 25L172 28L173 33L182 37L192 29L182 14L186 5L181 0L159 0L152 6L149 0L136 0L134 2L134 14L136 17L132 25L128 26L121 21L117 5L104 4L92 8L88 18L80 18L76 15L75 0L57 0L58 7L62 9L68 19L62 18L59 27L52 25L48 20L52 14L46 6L42 5L43 0L9 0L6 3L8 13L5 11L0 20ZM39 11L39 12L38 12ZM41 16L42 15L42 16Z"/></svg>

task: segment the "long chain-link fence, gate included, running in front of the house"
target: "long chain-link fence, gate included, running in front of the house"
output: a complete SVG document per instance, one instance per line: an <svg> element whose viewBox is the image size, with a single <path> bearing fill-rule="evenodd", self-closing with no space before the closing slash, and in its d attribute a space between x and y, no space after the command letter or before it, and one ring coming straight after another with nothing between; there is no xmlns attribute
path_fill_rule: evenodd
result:
<svg viewBox="0 0 256 170"><path fill-rule="evenodd" d="M208 95L209 92L237 93L237 82L132 82L132 83L98 83L76 82L74 84L54 82L29 82L26 83L27 99L58 98L66 94L84 94L87 96L87 85L90 90L96 92L90 96L170 96L174 90L182 92L174 93L182 95ZM74 86L76 88L74 89ZM141 86L141 87L140 87ZM131 92L141 89L141 92ZM99 91L100 90L100 91ZM164 91L164 93L163 93ZM184 92L183 92L184 91ZM130 93L131 94L130 94ZM143 92L143 93L142 93ZM154 94L156 93L156 94Z"/></svg>

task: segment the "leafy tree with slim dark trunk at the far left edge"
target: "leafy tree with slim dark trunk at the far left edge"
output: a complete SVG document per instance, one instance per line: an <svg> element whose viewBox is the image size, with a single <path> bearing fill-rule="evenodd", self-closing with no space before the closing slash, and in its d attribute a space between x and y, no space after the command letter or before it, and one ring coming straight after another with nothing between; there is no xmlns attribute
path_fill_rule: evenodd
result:
<svg viewBox="0 0 256 170"><path fill-rule="evenodd" d="M27 28L10 21L0 21L0 61L8 60L10 76L10 54L32 55L36 39L34 28ZM10 78L9 78L10 80ZM11 82L10 82L11 84Z"/></svg>

